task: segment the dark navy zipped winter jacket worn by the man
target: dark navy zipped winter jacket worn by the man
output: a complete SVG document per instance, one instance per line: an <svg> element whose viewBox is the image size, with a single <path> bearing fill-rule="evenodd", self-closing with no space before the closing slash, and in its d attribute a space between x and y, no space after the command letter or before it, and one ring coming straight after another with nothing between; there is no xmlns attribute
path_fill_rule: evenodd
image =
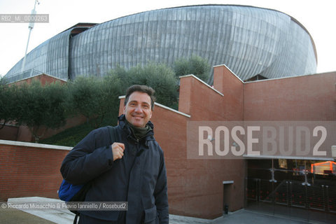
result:
<svg viewBox="0 0 336 224"><path fill-rule="evenodd" d="M125 116L120 116L118 141L124 156L113 162L107 127L93 130L62 162L63 178L72 184L92 181L87 202L128 202L126 223L169 223L167 174L163 151L153 137L153 124L146 137L137 141ZM117 221L120 211L81 211L106 221Z"/></svg>

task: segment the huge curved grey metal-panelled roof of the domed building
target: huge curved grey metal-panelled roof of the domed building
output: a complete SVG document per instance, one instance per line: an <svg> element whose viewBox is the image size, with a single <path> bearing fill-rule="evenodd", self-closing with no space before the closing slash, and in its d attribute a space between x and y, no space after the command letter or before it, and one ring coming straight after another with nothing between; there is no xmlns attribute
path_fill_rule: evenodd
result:
<svg viewBox="0 0 336 224"><path fill-rule="evenodd" d="M180 57L200 55L211 66L225 64L241 80L316 72L316 49L307 29L289 15L266 8L164 8L110 20L72 38L70 33L57 34L29 52L26 68L62 79L104 76L117 64L171 65ZM20 63L6 77L15 76Z"/></svg>

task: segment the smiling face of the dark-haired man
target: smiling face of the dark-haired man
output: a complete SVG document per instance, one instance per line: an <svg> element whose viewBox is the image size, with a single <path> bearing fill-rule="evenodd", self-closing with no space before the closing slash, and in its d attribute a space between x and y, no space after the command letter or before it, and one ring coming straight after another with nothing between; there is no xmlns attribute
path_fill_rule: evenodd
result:
<svg viewBox="0 0 336 224"><path fill-rule="evenodd" d="M145 127L152 117L151 97L145 92L132 92L124 106L124 114L135 127Z"/></svg>

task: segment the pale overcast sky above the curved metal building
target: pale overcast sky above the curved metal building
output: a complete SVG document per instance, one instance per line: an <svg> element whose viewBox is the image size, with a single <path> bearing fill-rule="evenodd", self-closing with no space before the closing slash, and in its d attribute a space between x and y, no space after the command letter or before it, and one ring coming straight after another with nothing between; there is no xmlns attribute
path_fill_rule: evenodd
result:
<svg viewBox="0 0 336 224"><path fill-rule="evenodd" d="M29 14L35 0L0 0L0 14ZM334 0L41 0L36 13L49 14L48 23L36 23L28 52L78 22L101 23L146 10L199 4L239 4L272 8L298 20L314 39L317 73L336 71L336 13ZM25 55L28 23L0 23L0 75Z"/></svg>

